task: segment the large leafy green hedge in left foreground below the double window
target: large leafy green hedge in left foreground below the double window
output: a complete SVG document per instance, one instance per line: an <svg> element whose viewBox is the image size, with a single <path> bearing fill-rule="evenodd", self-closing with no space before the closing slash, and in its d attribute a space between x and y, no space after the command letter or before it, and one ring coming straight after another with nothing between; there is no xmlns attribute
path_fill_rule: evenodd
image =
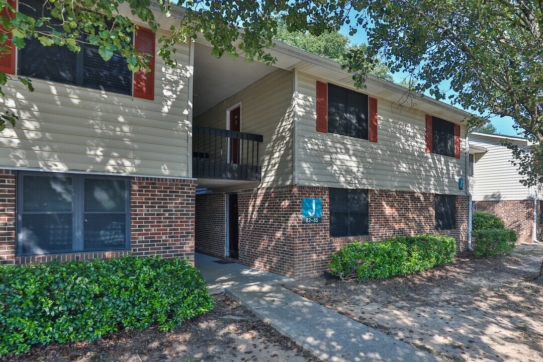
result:
<svg viewBox="0 0 543 362"><path fill-rule="evenodd" d="M200 272L181 259L0 266L0 355L155 322L171 330L213 305Z"/></svg>

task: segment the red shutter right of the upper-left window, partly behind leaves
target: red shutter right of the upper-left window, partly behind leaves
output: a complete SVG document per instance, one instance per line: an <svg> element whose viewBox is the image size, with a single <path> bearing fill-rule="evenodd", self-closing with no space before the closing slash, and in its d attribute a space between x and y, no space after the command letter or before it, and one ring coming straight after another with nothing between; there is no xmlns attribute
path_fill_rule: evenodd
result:
<svg viewBox="0 0 543 362"><path fill-rule="evenodd" d="M154 99L155 97L155 33L149 29L138 28L134 42L136 50L144 55L149 61L146 68L140 68L134 74L134 97Z"/></svg>

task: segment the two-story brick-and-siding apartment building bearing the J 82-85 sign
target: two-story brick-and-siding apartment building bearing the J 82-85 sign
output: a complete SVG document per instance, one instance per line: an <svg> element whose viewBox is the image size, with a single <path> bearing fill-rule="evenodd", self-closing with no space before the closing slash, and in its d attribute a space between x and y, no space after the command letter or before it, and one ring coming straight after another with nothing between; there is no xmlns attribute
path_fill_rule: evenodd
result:
<svg viewBox="0 0 543 362"><path fill-rule="evenodd" d="M153 39L135 35L151 53ZM305 277L355 239L468 245L462 110L400 107L405 88L370 75L357 90L338 63L282 43L266 66L192 42L177 68L156 57L133 77L92 47L27 47L0 61L36 89L10 81L0 98L20 118L0 134L2 263L195 249Z"/></svg>

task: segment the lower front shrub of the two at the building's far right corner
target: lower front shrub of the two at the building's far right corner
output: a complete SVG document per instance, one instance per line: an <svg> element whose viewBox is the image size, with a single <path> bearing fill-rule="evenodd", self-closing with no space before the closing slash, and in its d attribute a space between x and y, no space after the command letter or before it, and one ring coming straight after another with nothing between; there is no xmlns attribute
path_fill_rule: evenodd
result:
<svg viewBox="0 0 543 362"><path fill-rule="evenodd" d="M508 254L515 249L516 232L506 228L488 230L473 230L473 255L488 257L498 254Z"/></svg>

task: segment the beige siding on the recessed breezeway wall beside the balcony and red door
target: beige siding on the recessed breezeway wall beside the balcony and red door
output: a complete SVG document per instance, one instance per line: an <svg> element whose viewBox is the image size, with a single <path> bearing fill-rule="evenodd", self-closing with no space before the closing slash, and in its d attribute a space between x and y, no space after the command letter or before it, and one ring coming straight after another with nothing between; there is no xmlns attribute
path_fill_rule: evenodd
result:
<svg viewBox="0 0 543 362"><path fill-rule="evenodd" d="M264 138L262 187L292 184L293 81L291 72L277 70L194 119L195 125L225 129L226 110L241 103L241 132Z"/></svg>

